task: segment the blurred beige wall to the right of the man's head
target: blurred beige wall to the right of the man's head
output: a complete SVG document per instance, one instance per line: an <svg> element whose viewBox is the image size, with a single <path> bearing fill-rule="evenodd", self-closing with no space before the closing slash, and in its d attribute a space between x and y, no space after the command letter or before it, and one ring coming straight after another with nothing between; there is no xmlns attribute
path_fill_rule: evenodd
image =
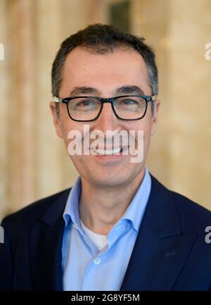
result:
<svg viewBox="0 0 211 305"><path fill-rule="evenodd" d="M159 5L158 5L159 4ZM160 123L148 167L177 192L211 209L210 0L135 1L134 32L154 46Z"/></svg>

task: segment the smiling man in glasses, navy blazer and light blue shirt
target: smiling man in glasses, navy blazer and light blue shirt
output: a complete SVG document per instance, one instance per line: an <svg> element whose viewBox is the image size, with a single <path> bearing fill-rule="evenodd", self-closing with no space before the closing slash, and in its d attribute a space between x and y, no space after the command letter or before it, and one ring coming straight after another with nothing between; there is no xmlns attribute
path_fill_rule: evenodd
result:
<svg viewBox="0 0 211 305"><path fill-rule="evenodd" d="M210 290L210 211L145 166L160 107L151 48L90 25L61 44L52 93L53 123L79 178L3 220L1 290ZM84 144L84 125L101 141L94 147L89 137L88 149L73 154L70 133ZM134 151L143 131L142 158L132 162L131 142L113 143L108 130L130 135Z"/></svg>

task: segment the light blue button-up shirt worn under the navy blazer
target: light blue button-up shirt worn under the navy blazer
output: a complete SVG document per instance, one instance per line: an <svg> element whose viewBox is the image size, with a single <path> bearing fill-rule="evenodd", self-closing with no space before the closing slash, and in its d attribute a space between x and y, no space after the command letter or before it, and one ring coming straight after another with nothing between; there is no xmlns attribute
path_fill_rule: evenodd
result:
<svg viewBox="0 0 211 305"><path fill-rule="evenodd" d="M79 220L81 178L77 178L63 213L63 290L120 290L151 192L151 176L145 169L139 189L108 233L108 246L101 251L84 233Z"/></svg>

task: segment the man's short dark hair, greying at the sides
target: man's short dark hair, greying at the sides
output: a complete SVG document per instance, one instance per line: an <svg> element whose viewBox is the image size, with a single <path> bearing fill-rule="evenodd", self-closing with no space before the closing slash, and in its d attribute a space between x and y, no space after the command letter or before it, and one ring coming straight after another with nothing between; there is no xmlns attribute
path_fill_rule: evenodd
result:
<svg viewBox="0 0 211 305"><path fill-rule="evenodd" d="M77 46L82 46L97 54L113 52L115 48L120 46L126 46L138 51L146 63L148 82L151 87L152 95L157 95L158 68L155 63L155 54L151 47L144 43L144 40L143 37L137 37L129 33L121 32L117 28L113 27L113 25L102 25L100 23L89 25L84 28L84 30L79 30L77 33L63 41L58 53L56 54L56 58L53 61L51 70L51 92L53 96L59 97L65 58L68 56L70 51L75 49Z"/></svg>

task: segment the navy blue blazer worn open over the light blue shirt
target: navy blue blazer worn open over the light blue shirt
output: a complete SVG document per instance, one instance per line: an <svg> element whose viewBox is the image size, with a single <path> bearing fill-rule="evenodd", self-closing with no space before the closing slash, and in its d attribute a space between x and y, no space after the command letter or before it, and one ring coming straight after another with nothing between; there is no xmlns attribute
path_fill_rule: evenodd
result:
<svg viewBox="0 0 211 305"><path fill-rule="evenodd" d="M120 290L211 290L211 243L205 242L211 212L151 178L151 194ZM62 216L69 192L4 218L0 290L63 290Z"/></svg>

